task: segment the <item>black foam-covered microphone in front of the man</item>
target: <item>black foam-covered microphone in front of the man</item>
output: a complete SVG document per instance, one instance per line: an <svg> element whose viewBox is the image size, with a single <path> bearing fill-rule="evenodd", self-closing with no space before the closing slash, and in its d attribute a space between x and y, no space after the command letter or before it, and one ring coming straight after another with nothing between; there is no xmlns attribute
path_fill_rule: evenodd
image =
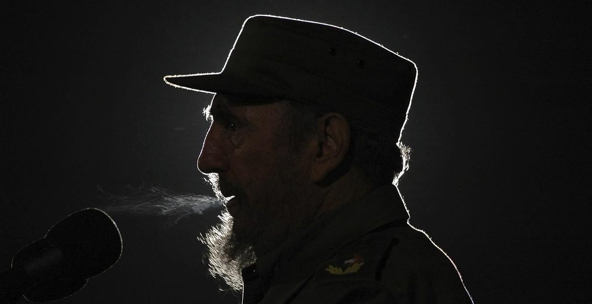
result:
<svg viewBox="0 0 592 304"><path fill-rule="evenodd" d="M0 274L0 303L21 295L37 303L73 295L113 266L122 250L119 229L104 211L70 214L15 254L11 269Z"/></svg>

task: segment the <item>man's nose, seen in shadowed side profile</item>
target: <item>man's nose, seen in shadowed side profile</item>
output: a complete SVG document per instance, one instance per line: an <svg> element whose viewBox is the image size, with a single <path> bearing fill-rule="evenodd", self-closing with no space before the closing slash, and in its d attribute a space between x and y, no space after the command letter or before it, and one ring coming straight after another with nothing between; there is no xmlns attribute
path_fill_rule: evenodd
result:
<svg viewBox="0 0 592 304"><path fill-rule="evenodd" d="M222 173L229 169L228 157L219 129L212 124L208 134L205 135L204 146L197 160L197 169L201 173Z"/></svg>

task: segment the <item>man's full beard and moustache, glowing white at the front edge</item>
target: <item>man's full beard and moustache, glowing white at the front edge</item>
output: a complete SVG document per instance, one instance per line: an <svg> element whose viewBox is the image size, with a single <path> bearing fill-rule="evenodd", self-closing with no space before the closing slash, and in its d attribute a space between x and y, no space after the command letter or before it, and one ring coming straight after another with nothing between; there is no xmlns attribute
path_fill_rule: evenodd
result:
<svg viewBox="0 0 592 304"><path fill-rule="evenodd" d="M209 174L209 182L218 199L227 202L223 193L234 196L230 215L224 208L218 216L220 222L200 240L207 245L208 270L223 280L232 290L243 288L242 269L255 263L256 253L264 254L288 237L300 225L314 217L313 193L303 173L298 173L290 161L284 161L274 174L259 182L250 183L245 191L218 174ZM301 171L302 172L302 171Z"/></svg>

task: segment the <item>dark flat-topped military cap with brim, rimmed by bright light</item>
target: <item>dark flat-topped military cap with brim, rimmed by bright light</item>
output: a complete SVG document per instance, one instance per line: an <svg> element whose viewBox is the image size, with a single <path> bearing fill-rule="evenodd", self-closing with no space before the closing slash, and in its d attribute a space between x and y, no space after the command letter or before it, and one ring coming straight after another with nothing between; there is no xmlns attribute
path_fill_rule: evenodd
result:
<svg viewBox="0 0 592 304"><path fill-rule="evenodd" d="M398 132L416 80L416 64L362 35L271 15L244 21L221 72L165 76L179 88L289 99Z"/></svg>

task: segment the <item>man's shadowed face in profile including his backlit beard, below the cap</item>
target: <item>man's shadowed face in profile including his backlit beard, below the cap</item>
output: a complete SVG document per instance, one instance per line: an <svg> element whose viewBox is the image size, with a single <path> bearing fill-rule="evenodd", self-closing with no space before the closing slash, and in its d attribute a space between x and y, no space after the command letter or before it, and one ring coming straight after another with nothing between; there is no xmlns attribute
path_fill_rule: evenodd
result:
<svg viewBox="0 0 592 304"><path fill-rule="evenodd" d="M255 104L221 94L204 111L211 126L198 169L226 208L203 240L210 272L234 289L241 287L233 286L242 281L240 269L253 263L253 250L271 250L313 217L307 149L291 149L285 111L287 101Z"/></svg>

